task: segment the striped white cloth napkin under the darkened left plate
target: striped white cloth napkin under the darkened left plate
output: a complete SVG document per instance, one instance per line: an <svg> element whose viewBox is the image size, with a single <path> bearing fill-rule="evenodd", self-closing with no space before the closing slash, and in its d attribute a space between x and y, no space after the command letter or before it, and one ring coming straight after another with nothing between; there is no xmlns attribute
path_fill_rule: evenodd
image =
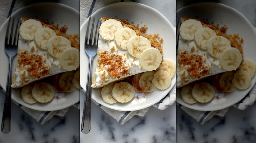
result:
<svg viewBox="0 0 256 143"><path fill-rule="evenodd" d="M23 0L23 1L2 1L1 0L1 26L5 22L5 20L16 10L26 6L27 4L33 3L31 0ZM4 92L3 88L0 87L0 89ZM13 100L12 100L13 101ZM37 111L30 108L27 108L25 106L22 106L21 104L13 101L16 105L18 105L22 110L24 110L26 113L28 113L32 118L34 118L37 122L39 122L41 125L50 120L54 115L57 116L65 116L65 114L68 112L70 107L67 107L62 110L57 111ZM75 108L80 109L80 102L73 105Z"/></svg>

